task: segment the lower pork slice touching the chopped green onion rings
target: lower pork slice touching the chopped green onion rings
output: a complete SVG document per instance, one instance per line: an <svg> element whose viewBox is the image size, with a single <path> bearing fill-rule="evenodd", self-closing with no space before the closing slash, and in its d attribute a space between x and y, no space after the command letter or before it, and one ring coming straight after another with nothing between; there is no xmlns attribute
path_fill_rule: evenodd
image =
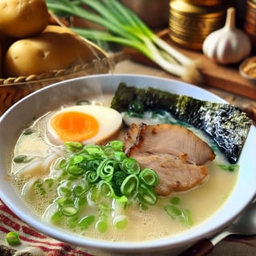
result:
<svg viewBox="0 0 256 256"><path fill-rule="evenodd" d="M159 196L168 196L171 192L184 192L195 188L206 179L206 166L185 163L174 155L136 155L140 167L151 168L159 175L159 184L155 191Z"/></svg>

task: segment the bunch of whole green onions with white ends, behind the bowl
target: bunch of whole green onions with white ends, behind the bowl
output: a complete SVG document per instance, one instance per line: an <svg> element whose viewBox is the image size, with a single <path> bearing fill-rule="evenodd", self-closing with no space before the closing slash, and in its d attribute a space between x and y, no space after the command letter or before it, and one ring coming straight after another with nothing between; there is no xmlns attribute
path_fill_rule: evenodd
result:
<svg viewBox="0 0 256 256"><path fill-rule="evenodd" d="M166 72L179 76L184 81L201 80L197 60L188 58L155 35L137 14L118 0L47 0L47 6L56 15L77 16L105 28L105 31L100 31L72 27L73 31L86 39L133 48Z"/></svg>

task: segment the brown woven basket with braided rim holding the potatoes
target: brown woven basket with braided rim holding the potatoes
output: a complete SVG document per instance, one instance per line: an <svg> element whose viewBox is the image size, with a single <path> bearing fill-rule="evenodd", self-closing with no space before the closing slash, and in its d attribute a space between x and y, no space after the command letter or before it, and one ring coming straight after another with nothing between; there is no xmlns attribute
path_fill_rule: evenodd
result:
<svg viewBox="0 0 256 256"><path fill-rule="evenodd" d="M53 14L51 11L49 11L49 14L54 25L66 27L56 14ZM115 64L126 59L124 52L116 52L109 56L97 44L82 37L81 39L90 47L95 56L95 59L90 63L78 64L71 68L54 70L40 75L0 78L0 116L15 102L38 89L79 76L89 76L113 71Z"/></svg>

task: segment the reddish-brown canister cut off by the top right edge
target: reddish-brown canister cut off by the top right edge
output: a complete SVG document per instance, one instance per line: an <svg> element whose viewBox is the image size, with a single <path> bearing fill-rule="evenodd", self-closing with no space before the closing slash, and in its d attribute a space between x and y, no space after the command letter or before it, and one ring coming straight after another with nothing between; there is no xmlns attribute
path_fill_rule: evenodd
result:
<svg viewBox="0 0 256 256"><path fill-rule="evenodd" d="M244 30L256 47L256 0L247 0Z"/></svg>

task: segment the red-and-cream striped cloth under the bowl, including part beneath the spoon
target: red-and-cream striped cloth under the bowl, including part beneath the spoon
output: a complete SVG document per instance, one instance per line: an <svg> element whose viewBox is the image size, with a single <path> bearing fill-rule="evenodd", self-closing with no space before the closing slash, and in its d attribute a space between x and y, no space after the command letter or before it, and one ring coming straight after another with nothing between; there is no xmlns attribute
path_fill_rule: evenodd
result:
<svg viewBox="0 0 256 256"><path fill-rule="evenodd" d="M9 246L6 242L6 233L16 231L20 235L19 246ZM182 249L184 250L184 249ZM181 250L181 251L182 251ZM32 229L15 216L0 200L0 256L93 256L88 250L73 247L64 242L56 241ZM180 251L179 251L180 252ZM98 254L97 252L96 254ZM99 254L102 256L101 254ZM104 254L110 255L110 254ZM115 254L117 255L117 254ZM149 255L139 254L139 255ZM174 256L170 250L151 256ZM215 246L209 256L255 256L256 237L227 237Z"/></svg>

